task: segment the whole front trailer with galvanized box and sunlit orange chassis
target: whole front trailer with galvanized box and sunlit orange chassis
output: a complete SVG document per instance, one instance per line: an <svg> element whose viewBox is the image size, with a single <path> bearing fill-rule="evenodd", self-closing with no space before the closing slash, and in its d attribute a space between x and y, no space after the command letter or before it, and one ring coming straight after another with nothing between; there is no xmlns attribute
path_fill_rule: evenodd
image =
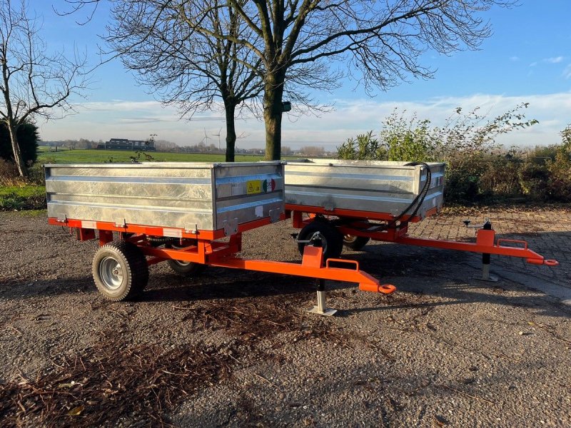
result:
<svg viewBox="0 0 571 428"><path fill-rule="evenodd" d="M238 258L242 233L274 223L284 214L284 165L259 163L99 163L45 165L48 221L98 238L93 276L109 300L141 294L148 265L166 261L193 275L206 265L276 272L318 280L356 282L360 289L390 293L352 260L323 260L320 236L299 263ZM226 238L226 239L224 239Z"/></svg>

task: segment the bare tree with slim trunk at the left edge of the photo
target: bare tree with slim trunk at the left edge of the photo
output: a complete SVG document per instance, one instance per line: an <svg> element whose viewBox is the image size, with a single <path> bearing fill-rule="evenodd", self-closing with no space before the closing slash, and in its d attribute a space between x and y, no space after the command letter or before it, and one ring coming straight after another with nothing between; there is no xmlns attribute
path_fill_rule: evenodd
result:
<svg viewBox="0 0 571 428"><path fill-rule="evenodd" d="M25 1L0 0L0 121L10 134L14 161L28 174L16 132L26 121L64 116L69 97L86 88L83 61L62 53L46 54L38 19L28 16Z"/></svg>

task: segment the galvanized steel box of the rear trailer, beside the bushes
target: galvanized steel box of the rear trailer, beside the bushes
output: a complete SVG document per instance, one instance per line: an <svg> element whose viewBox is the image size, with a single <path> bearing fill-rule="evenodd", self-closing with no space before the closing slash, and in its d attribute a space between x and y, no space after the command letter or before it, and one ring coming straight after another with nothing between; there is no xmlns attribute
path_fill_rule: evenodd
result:
<svg viewBox="0 0 571 428"><path fill-rule="evenodd" d="M325 210L360 210L400 215L425 185L421 165L406 162L338 161L311 159L285 165L285 203L316 206ZM430 190L418 210L443 204L444 163L429 163ZM412 211L414 207L410 210Z"/></svg>

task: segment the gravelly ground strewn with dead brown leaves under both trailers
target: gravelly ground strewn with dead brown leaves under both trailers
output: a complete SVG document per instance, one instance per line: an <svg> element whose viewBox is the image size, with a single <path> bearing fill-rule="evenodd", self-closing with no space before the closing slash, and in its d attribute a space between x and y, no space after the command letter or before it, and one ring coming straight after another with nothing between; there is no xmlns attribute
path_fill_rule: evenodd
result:
<svg viewBox="0 0 571 428"><path fill-rule="evenodd" d="M346 252L393 295L328 282L335 317L305 312L315 282L151 266L136 302L108 302L94 241L0 213L2 427L570 427L571 307L533 287L571 288L571 210L438 215L420 237L472 239L490 217L557 267L369 243ZM289 222L245 235L243 257L300 256Z"/></svg>

